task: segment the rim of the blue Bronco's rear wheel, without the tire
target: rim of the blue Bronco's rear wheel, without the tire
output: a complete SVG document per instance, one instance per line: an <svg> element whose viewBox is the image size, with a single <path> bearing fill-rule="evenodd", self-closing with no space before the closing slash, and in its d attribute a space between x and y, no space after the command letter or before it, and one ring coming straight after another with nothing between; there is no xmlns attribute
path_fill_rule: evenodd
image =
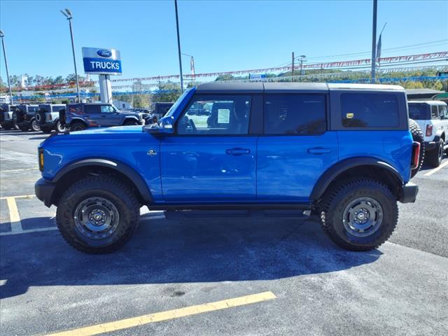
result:
<svg viewBox="0 0 448 336"><path fill-rule="evenodd" d="M358 197L351 201L342 215L345 230L356 237L373 235L382 221L383 208L371 197Z"/></svg>

